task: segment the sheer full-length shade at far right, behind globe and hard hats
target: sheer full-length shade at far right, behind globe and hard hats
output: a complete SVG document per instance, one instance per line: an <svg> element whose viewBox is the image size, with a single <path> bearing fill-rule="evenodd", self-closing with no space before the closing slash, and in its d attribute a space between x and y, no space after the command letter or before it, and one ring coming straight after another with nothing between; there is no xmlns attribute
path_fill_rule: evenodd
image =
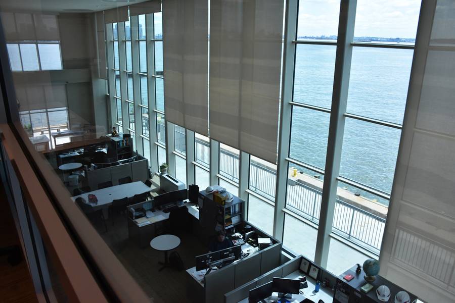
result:
<svg viewBox="0 0 455 303"><path fill-rule="evenodd" d="M423 1L380 274L455 301L455 7Z"/></svg>

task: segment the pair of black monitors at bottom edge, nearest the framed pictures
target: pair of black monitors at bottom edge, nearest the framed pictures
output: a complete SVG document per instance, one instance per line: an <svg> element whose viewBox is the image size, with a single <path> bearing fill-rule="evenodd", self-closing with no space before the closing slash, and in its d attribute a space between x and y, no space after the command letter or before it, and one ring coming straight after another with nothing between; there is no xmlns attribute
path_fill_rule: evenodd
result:
<svg viewBox="0 0 455 303"><path fill-rule="evenodd" d="M298 294L301 288L301 279L274 278L271 282L250 290L248 303L263 302L271 296L272 292L278 292L279 298L292 298L292 294Z"/></svg>

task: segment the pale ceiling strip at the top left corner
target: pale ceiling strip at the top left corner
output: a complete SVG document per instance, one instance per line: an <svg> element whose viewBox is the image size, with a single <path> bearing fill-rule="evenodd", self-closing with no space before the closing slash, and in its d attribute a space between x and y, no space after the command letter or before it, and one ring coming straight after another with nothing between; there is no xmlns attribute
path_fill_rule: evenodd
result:
<svg viewBox="0 0 455 303"><path fill-rule="evenodd" d="M1 11L87 13L127 6L148 0L0 0Z"/></svg>

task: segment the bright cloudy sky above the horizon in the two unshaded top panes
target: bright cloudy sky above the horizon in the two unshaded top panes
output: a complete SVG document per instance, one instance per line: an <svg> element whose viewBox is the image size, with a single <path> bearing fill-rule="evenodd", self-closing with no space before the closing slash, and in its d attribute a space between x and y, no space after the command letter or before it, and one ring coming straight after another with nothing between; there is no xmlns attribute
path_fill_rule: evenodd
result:
<svg viewBox="0 0 455 303"><path fill-rule="evenodd" d="M421 1L357 0L354 36L415 38ZM297 36L337 35L340 0L300 0Z"/></svg>

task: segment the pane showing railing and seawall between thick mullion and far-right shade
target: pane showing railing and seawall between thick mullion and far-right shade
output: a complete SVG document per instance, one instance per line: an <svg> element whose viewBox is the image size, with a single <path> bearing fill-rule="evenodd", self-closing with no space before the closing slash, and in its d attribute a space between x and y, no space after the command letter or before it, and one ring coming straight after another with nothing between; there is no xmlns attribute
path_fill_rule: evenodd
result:
<svg viewBox="0 0 455 303"><path fill-rule="evenodd" d="M389 200L339 182L333 232L379 254Z"/></svg>

